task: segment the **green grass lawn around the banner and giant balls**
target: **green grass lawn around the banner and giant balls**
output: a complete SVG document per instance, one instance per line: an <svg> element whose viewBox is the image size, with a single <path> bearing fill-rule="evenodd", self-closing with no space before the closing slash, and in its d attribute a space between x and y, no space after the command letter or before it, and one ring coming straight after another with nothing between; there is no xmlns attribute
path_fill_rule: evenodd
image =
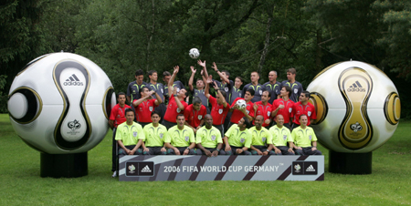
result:
<svg viewBox="0 0 411 206"><path fill-rule="evenodd" d="M89 175L40 177L40 153L0 115L0 205L399 205L411 204L411 122L373 152L373 173L326 172L324 181L157 181L111 178L111 131L89 151ZM319 147L328 170L328 151Z"/></svg>

